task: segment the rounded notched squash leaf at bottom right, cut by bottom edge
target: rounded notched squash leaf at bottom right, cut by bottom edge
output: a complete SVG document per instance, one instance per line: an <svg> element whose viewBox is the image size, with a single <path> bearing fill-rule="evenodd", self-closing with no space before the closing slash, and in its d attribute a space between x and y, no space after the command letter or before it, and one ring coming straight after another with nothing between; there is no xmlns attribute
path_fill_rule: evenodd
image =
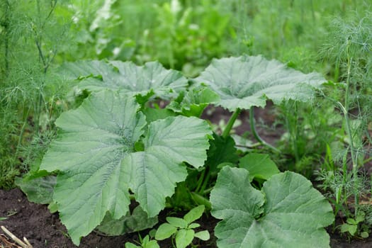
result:
<svg viewBox="0 0 372 248"><path fill-rule="evenodd" d="M300 174L271 176L261 192L246 169L224 167L210 201L220 248L329 247L332 207Z"/></svg>

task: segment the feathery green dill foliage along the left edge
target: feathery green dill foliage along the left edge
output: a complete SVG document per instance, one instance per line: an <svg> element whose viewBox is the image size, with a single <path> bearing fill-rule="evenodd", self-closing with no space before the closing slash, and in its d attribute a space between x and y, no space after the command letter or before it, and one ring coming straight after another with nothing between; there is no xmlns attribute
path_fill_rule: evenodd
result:
<svg viewBox="0 0 372 248"><path fill-rule="evenodd" d="M29 169L25 159L43 154L64 108L66 89L50 73L67 47L63 8L56 0L0 3L0 188Z"/></svg>

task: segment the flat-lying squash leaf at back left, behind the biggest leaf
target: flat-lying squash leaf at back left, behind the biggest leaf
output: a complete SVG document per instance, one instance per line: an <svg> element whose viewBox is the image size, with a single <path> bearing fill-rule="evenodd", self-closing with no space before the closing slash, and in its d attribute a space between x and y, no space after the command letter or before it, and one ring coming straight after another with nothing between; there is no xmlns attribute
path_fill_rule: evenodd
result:
<svg viewBox="0 0 372 248"><path fill-rule="evenodd" d="M188 85L180 72L165 69L159 62L137 66L133 62L79 61L65 63L62 69L70 79L81 80L79 88L89 91L119 89L126 94L167 98Z"/></svg>

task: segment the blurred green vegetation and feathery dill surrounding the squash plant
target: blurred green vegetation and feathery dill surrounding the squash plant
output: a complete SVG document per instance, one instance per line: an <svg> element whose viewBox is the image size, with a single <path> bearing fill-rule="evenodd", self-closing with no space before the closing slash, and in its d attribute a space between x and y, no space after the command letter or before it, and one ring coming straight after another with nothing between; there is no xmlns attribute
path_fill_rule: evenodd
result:
<svg viewBox="0 0 372 248"><path fill-rule="evenodd" d="M74 83L55 74L63 62L159 60L193 77L214 57L245 53L329 79L312 105L276 110L286 154L276 160L317 177L337 210L356 218L351 204L371 225L358 203L371 191L370 10L361 0L2 0L0 188L38 169L55 118L79 104Z"/></svg>

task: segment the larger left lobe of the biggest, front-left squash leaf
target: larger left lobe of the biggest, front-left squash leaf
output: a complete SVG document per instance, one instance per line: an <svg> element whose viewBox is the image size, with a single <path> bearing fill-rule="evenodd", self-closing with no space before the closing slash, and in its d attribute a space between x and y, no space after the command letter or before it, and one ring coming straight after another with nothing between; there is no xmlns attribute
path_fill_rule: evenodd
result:
<svg viewBox="0 0 372 248"><path fill-rule="evenodd" d="M74 243L99 225L106 211L115 218L128 211L128 174L120 162L146 124L138 108L131 98L102 91L56 121L60 130L40 169L60 170L54 198Z"/></svg>

